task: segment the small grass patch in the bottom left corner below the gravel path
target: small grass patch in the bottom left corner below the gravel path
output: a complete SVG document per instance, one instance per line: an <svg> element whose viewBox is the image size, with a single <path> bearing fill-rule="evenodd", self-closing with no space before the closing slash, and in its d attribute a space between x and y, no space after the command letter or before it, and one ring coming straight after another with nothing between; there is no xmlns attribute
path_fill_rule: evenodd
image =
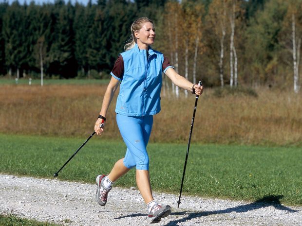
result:
<svg viewBox="0 0 302 226"><path fill-rule="evenodd" d="M0 226L64 226L20 218L14 215L0 215Z"/></svg>

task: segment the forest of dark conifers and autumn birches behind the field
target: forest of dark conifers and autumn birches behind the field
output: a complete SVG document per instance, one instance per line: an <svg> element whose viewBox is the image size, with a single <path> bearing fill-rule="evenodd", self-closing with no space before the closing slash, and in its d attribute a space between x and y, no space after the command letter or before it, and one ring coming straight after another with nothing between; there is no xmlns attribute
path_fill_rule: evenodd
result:
<svg viewBox="0 0 302 226"><path fill-rule="evenodd" d="M194 82L299 92L302 0L2 1L0 76L109 78L143 16L155 23L153 48Z"/></svg>

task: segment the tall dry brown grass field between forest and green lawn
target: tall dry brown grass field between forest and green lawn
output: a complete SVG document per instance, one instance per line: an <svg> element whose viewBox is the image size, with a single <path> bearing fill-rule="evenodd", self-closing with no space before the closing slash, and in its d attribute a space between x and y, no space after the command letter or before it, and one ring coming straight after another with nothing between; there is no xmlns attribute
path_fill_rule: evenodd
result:
<svg viewBox="0 0 302 226"><path fill-rule="evenodd" d="M86 138L94 129L105 85L2 85L0 133ZM192 142L254 145L302 144L302 96L257 89L252 95L217 97L206 89L199 99ZM167 92L166 92L167 93ZM115 98L103 139L121 139ZM187 142L195 98L162 95L151 141Z"/></svg>

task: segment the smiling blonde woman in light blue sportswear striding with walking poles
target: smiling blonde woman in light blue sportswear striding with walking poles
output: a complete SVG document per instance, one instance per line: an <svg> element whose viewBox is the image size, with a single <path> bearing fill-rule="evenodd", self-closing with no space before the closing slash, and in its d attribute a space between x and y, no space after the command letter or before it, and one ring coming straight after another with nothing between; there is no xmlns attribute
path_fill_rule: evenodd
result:
<svg viewBox="0 0 302 226"><path fill-rule="evenodd" d="M117 97L116 122L127 145L124 158L119 159L108 175L98 175L96 199L101 206L107 202L108 192L119 177L136 167L137 187L147 205L150 223L158 223L167 217L171 207L154 201L149 179L149 157L146 150L153 115L160 111L160 90L162 72L178 87L201 95L203 87L194 85L180 76L161 53L151 49L155 39L155 29L151 19L141 17L131 26L132 38L125 45L111 72L112 78L106 89L102 108L94 131L97 135L104 132L100 125L106 121L106 113L113 95L120 84Z"/></svg>

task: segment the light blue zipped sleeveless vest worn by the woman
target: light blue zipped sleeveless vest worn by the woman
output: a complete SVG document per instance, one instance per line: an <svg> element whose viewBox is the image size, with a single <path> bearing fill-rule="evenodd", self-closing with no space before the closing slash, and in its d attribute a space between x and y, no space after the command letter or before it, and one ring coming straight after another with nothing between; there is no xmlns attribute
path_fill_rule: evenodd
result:
<svg viewBox="0 0 302 226"><path fill-rule="evenodd" d="M131 50L121 53L124 75L115 107L118 114L146 116L160 111L164 55L151 48L148 60L146 54L146 50L139 50L137 44Z"/></svg>

